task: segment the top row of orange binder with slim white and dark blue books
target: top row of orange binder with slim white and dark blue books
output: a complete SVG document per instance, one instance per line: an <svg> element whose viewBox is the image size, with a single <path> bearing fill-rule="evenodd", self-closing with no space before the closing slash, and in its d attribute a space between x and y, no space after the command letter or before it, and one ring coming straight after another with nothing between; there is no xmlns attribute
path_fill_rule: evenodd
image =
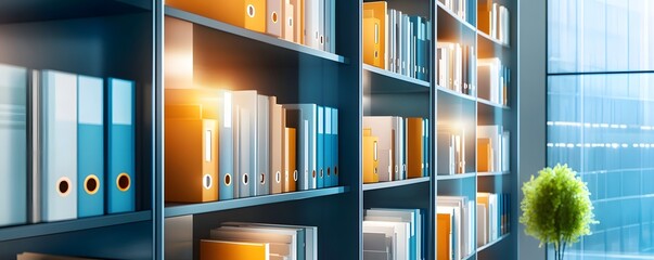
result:
<svg viewBox="0 0 654 260"><path fill-rule="evenodd" d="M363 62L420 80L429 80L432 22L388 9L386 1L363 3Z"/></svg>

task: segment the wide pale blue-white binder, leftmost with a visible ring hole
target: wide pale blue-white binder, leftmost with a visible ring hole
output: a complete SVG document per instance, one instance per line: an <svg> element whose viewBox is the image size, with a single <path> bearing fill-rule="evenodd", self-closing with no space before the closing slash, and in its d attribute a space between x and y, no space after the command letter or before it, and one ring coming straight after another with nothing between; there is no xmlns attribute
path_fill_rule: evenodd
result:
<svg viewBox="0 0 654 260"><path fill-rule="evenodd" d="M40 192L42 221L77 218L77 76L41 77Z"/></svg>

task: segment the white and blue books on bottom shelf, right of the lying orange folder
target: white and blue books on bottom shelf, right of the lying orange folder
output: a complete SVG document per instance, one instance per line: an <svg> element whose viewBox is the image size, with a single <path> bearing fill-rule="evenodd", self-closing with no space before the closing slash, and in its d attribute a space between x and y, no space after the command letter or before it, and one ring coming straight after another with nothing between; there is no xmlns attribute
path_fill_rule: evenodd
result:
<svg viewBox="0 0 654 260"><path fill-rule="evenodd" d="M424 232L424 216L420 209L367 209L363 217L363 259L425 259Z"/></svg>

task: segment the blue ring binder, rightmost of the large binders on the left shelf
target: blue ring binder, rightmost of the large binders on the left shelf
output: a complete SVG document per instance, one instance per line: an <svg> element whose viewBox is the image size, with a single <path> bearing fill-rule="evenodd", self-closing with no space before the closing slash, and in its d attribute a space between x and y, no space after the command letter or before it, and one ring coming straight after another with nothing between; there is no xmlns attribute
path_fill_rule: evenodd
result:
<svg viewBox="0 0 654 260"><path fill-rule="evenodd" d="M133 211L134 202L134 82L110 78L107 94L106 211Z"/></svg>

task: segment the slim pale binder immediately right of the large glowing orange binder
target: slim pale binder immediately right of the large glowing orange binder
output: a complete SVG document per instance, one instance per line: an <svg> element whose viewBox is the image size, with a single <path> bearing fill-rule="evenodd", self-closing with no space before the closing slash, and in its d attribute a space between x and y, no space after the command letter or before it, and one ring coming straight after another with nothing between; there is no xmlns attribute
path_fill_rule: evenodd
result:
<svg viewBox="0 0 654 260"><path fill-rule="evenodd" d="M227 200L234 198L234 132L232 127L232 93L225 92L221 107L220 118L220 161L219 179L220 186L218 187L218 199Z"/></svg>

